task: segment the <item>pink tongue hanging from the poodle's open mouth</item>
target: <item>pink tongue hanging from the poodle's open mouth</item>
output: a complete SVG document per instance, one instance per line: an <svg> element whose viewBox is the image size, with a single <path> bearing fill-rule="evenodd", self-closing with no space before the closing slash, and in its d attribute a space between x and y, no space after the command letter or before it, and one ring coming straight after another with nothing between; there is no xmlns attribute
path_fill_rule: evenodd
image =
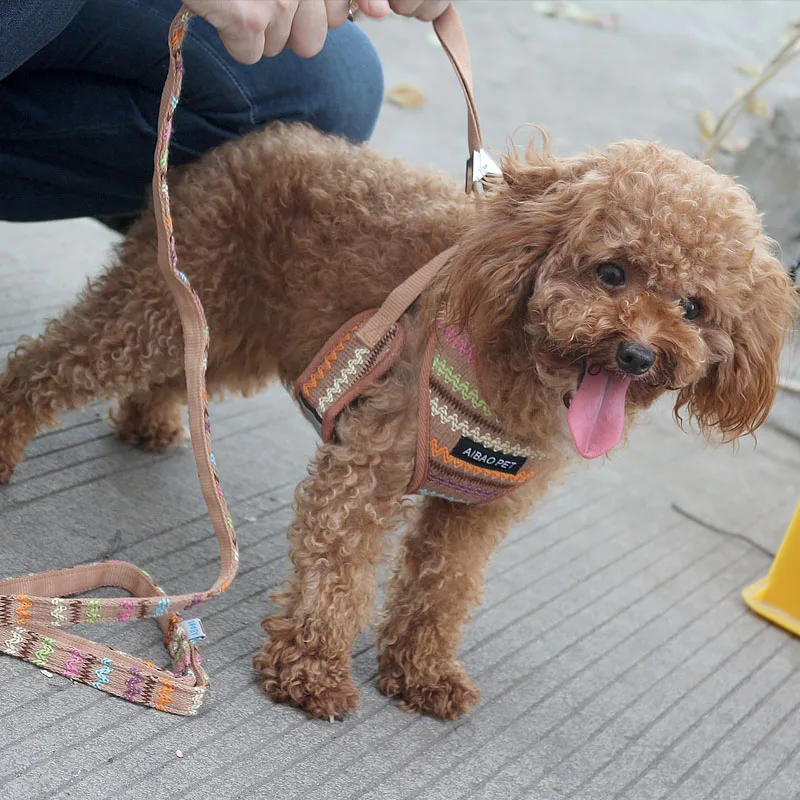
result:
<svg viewBox="0 0 800 800"><path fill-rule="evenodd" d="M606 369L596 375L586 371L567 412L575 447L584 458L597 458L619 444L630 382Z"/></svg>

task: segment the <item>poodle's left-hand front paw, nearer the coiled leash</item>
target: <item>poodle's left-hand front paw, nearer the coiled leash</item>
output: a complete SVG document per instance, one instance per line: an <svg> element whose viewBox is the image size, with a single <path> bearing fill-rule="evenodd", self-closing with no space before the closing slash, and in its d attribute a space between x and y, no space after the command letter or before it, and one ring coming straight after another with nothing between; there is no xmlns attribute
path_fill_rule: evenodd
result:
<svg viewBox="0 0 800 800"><path fill-rule="evenodd" d="M270 639L254 656L264 694L317 719L343 719L358 708L358 689L346 672L287 642Z"/></svg>

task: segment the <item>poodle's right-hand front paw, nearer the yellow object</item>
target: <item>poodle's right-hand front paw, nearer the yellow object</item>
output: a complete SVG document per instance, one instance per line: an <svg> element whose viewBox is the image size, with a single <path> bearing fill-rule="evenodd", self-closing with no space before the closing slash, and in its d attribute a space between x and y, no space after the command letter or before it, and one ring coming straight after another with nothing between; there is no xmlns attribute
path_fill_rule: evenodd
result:
<svg viewBox="0 0 800 800"><path fill-rule="evenodd" d="M472 711L481 692L456 663L449 664L438 676L411 677L395 664L381 666L378 689L387 697L400 700L404 711L428 714L452 721Z"/></svg>

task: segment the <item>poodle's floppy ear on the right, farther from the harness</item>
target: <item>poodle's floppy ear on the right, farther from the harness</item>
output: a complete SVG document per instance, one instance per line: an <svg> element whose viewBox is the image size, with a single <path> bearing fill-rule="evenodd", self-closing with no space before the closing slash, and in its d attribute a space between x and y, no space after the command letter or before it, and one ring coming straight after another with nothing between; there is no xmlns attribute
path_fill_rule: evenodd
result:
<svg viewBox="0 0 800 800"><path fill-rule="evenodd" d="M753 433L767 418L777 390L781 349L797 312L797 294L780 262L762 243L751 263L748 306L733 321L722 360L681 391L675 414L686 408L701 429L731 441Z"/></svg>

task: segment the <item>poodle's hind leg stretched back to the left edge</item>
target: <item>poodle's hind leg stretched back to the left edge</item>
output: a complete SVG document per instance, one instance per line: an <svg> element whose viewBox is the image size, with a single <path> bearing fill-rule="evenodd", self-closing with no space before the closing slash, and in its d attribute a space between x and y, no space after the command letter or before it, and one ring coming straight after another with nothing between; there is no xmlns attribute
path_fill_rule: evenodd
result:
<svg viewBox="0 0 800 800"><path fill-rule="evenodd" d="M21 341L0 375L0 483L62 411L174 379L182 351L178 315L163 287L121 269L93 282L41 336Z"/></svg>

